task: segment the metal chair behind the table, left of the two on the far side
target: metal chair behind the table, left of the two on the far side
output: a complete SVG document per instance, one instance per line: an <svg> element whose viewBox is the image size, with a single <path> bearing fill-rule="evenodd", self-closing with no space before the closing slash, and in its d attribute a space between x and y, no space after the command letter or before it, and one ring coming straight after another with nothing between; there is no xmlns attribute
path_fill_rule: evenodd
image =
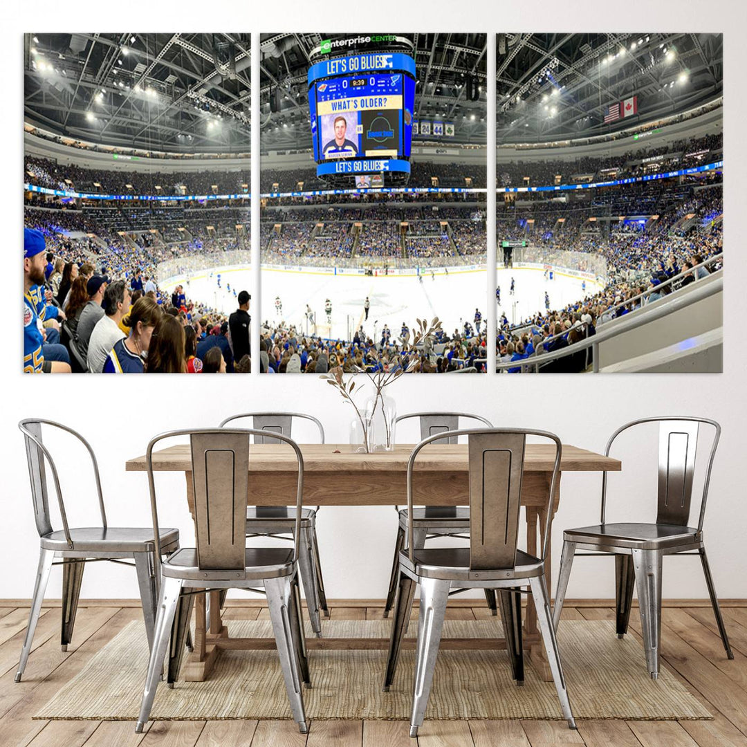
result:
<svg viewBox="0 0 747 747"><path fill-rule="evenodd" d="M320 443L324 443L324 428L312 415L300 412L244 412L226 418L220 427L241 418L252 418L252 427L262 432L255 436L255 444L279 443L277 438L268 433L281 433L291 438L291 426L294 418L311 421L319 429ZM306 594L306 607L309 610L311 630L320 637L322 634L320 610L329 617L329 607L326 603L322 566L319 560L319 543L317 542L317 511L316 509L301 509L301 538L298 555L298 567ZM269 536L275 539L293 540L296 521L296 509L286 506L250 506L247 509L247 537ZM291 536L288 536L291 535Z"/></svg>

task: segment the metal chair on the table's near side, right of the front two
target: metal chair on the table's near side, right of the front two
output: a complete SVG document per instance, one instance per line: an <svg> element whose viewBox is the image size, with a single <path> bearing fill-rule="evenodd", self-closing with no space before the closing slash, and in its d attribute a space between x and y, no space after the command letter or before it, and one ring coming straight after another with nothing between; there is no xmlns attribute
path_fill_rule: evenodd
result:
<svg viewBox="0 0 747 747"><path fill-rule="evenodd" d="M410 718L410 737L418 736L428 705L433 670L444 624L450 589L493 589L500 598L500 617L506 635L513 679L524 682L524 652L521 644L521 593L529 586L537 610L537 622L548 662L555 681L562 714L569 728L576 728L560 654L551 619L548 590L545 586L545 556L550 536L550 503L560 469L562 445L553 433L502 428L456 430L430 436L413 450L407 464L407 507L412 516L412 471L415 458L427 444L439 438L468 436L471 532L468 548L415 547L415 523L408 521L408 549L399 554L399 595L389 642L389 657L384 690L394 680L402 641L420 584L420 616L415 660L415 684ZM536 558L518 550L521 476L524 470L524 447L527 436L542 436L555 444L555 462L548 492L547 524L542 557Z"/></svg>

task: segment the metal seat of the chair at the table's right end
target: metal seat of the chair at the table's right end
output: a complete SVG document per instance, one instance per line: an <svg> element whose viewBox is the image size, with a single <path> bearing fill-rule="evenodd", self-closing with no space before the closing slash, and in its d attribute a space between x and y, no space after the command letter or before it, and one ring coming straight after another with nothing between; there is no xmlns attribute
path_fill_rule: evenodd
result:
<svg viewBox="0 0 747 747"><path fill-rule="evenodd" d="M680 524L596 524L565 530L563 539L582 545L660 550L701 542L702 534Z"/></svg>

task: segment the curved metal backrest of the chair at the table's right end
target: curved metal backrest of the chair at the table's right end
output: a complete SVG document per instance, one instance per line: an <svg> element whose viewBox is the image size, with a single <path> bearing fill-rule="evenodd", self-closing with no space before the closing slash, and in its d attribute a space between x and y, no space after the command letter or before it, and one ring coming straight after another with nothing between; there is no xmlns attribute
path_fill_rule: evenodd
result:
<svg viewBox="0 0 747 747"><path fill-rule="evenodd" d="M645 423L659 424L659 480L657 489L657 524L675 524L685 527L692 506L692 482L695 474L695 453L701 425L713 427L710 454L701 496L698 530L703 528L705 505L708 498L710 473L716 447L721 437L721 426L707 418L692 418L687 415L665 418L642 418L619 427L607 441L604 451L609 456L616 438L624 431ZM602 477L601 523L605 522L607 510L607 473Z"/></svg>

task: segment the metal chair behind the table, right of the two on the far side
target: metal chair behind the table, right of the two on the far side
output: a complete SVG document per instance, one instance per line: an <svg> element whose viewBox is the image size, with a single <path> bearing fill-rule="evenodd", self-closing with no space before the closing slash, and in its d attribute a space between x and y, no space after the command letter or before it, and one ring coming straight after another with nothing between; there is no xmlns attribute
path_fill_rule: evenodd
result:
<svg viewBox="0 0 747 747"><path fill-rule="evenodd" d="M429 436L435 436L436 433L446 433L446 431L456 430L459 428L459 418L470 418L480 421L487 427L492 428L493 424L482 415L471 415L468 412L411 412L409 415L400 415L395 423L407 420L409 418L420 419L421 441ZM446 439L449 444L456 444L456 437ZM397 578L399 577L399 557L400 551L405 548L405 533L407 531L407 509L400 509L394 506L399 516L399 526L397 527L397 542L394 544L394 560L391 564L391 577L389 578L389 589L386 593L386 603L384 605L384 617L388 617L389 611L394 607L394 598L397 596ZM461 537L468 539L469 536L469 509L464 506L425 506L424 508L415 509L413 515L415 549L420 550L425 547L427 539L433 537ZM485 589L485 598L488 607L494 615L498 615L498 605L495 601L495 592L492 589Z"/></svg>

